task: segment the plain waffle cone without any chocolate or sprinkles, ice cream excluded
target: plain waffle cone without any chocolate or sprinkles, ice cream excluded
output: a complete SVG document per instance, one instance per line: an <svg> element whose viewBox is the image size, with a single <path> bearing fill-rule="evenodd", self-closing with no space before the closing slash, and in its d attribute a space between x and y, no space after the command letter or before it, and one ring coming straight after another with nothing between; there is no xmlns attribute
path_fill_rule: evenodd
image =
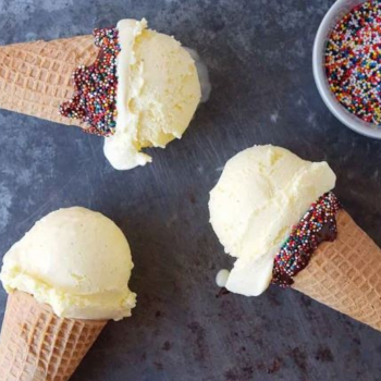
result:
<svg viewBox="0 0 381 381"><path fill-rule="evenodd" d="M33 296L12 293L0 336L0 380L69 380L106 323L62 319Z"/></svg>

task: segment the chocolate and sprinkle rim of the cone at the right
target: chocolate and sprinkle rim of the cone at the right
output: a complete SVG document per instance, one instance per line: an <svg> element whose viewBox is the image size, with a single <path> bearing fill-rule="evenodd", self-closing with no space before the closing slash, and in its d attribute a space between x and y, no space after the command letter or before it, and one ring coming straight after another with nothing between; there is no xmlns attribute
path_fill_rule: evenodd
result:
<svg viewBox="0 0 381 381"><path fill-rule="evenodd" d="M318 245L336 238L339 210L340 202L332 192L311 205L275 257L272 283L282 287L293 284L292 278L308 265Z"/></svg>

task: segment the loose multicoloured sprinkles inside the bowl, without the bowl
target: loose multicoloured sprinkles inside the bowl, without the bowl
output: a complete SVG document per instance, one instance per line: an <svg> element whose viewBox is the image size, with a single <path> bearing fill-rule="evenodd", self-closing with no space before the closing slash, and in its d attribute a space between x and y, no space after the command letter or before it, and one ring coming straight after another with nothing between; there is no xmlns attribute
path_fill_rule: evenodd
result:
<svg viewBox="0 0 381 381"><path fill-rule="evenodd" d="M381 125L381 1L366 1L339 22L327 45L325 72L349 112Z"/></svg>

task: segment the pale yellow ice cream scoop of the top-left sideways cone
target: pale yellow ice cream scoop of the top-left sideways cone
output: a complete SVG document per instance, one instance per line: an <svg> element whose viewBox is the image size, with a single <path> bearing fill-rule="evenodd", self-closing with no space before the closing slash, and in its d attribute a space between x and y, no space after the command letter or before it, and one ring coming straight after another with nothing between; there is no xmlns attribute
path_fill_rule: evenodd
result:
<svg viewBox="0 0 381 381"><path fill-rule="evenodd" d="M145 165L145 147L181 138L201 97L194 60L173 37L147 29L146 20L116 25L116 127L105 155L118 170Z"/></svg>

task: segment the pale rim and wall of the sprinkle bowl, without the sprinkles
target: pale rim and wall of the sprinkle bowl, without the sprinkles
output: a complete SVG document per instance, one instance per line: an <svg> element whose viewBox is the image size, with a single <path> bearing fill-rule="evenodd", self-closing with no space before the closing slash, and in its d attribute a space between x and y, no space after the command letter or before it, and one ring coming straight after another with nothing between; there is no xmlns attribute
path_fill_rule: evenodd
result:
<svg viewBox="0 0 381 381"><path fill-rule="evenodd" d="M373 123L364 122L347 111L335 98L330 90L329 83L324 70L324 51L327 40L331 30L336 23L348 13L354 7L365 2L366 0L337 0L325 14L320 24L318 34L314 44L312 65L315 82L318 86L321 98L331 110L331 112L346 126L357 133L381 139L381 126L378 127Z"/></svg>

